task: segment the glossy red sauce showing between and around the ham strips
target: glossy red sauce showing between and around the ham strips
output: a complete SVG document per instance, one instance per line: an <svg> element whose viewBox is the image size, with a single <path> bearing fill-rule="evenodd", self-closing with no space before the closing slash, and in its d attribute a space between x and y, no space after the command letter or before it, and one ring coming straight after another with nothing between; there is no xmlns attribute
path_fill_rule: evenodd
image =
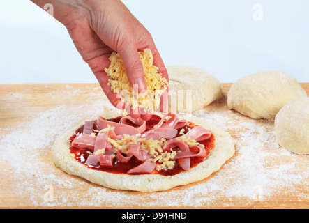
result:
<svg viewBox="0 0 309 223"><path fill-rule="evenodd" d="M116 117L116 118L110 118L107 119L107 121L114 121L116 123L119 123L120 121L120 116ZM147 130L151 130L153 128L154 125L158 124L158 122L160 121L160 117L153 115L151 119L149 119L149 121L146 121L146 131ZM133 123L132 123L132 126ZM193 128L197 125L195 125L194 123L190 123L188 122L187 125L184 127L185 132L184 134L186 134L186 132L188 132L188 128ZM137 127L137 126L134 126ZM76 134L81 133L82 130L84 129L84 125L82 125L80 128L78 128L75 131L75 134L73 134L73 136L70 137L69 141L72 142L73 139L75 139ZM176 137L179 137L180 134L179 132L181 131L182 128L178 129L178 134L176 135ZM93 130L98 130L98 127L95 125L93 125ZM168 140L168 139L167 139ZM215 137L213 136L213 134L211 134L211 137L209 137L209 139L206 139L204 141L199 141L200 144L203 144L205 147L205 150L207 152L207 156L209 155L210 151L214 148L215 146ZM193 151L194 152L194 151ZM75 155L75 160L81 162L81 163L85 163L89 153L87 153L86 149L82 149L82 148L75 148L73 146L70 146L70 153L73 153ZM191 157L191 162L190 162L190 168L192 167L196 167L197 164L199 164L200 162L202 162L204 159L207 158L207 156L205 158L199 158L199 157ZM93 166L93 165L89 165L89 164L85 164L86 167L89 167L91 169L96 169L96 170L100 170L100 171L106 171L109 173L113 173L113 174L127 174L127 172L132 169L133 167L137 167L138 165L142 164L142 162L140 160L137 160L134 156L129 160L129 162L123 163L123 162L119 162L119 160L117 160L116 157L114 157L113 160L113 165L112 167L103 167L100 166L100 164L98 164L97 166ZM154 171L151 172L151 174L161 174L163 176L172 176L175 174L179 174L181 172L183 172L185 170L183 170L178 162L175 162L174 168L173 169L167 169L167 170L160 170L157 171L156 169L154 169ZM133 174L131 174L133 175Z"/></svg>

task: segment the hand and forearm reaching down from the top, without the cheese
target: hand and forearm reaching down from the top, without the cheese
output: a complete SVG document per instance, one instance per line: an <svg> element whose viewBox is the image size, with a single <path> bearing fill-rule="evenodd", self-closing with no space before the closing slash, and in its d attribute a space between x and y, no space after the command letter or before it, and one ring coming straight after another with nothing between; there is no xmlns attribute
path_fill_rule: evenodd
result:
<svg viewBox="0 0 309 223"><path fill-rule="evenodd" d="M119 0L31 0L40 8L51 3L54 18L61 22L73 40L82 59L88 63L108 100L118 109L126 109L133 118L148 120L151 113L142 109L131 109L119 102L116 93L107 86L105 68L110 66L108 58L119 52L130 84L135 91L146 90L144 70L139 51L146 48L153 53L153 65L168 81L167 70L149 31L130 13ZM159 110L167 106L168 93L161 97Z"/></svg>

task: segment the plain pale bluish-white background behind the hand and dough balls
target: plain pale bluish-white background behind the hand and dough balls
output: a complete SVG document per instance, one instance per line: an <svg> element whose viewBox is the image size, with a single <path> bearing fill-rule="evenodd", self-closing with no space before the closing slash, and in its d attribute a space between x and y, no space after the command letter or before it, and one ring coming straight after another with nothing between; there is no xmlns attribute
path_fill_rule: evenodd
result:
<svg viewBox="0 0 309 223"><path fill-rule="evenodd" d="M203 68L220 82L282 70L309 82L307 0L126 0L165 66ZM257 5L256 5L257 4ZM256 20L255 6L262 6ZM259 17L261 18L261 17ZM0 84L96 82L65 27L28 0L0 1Z"/></svg>

